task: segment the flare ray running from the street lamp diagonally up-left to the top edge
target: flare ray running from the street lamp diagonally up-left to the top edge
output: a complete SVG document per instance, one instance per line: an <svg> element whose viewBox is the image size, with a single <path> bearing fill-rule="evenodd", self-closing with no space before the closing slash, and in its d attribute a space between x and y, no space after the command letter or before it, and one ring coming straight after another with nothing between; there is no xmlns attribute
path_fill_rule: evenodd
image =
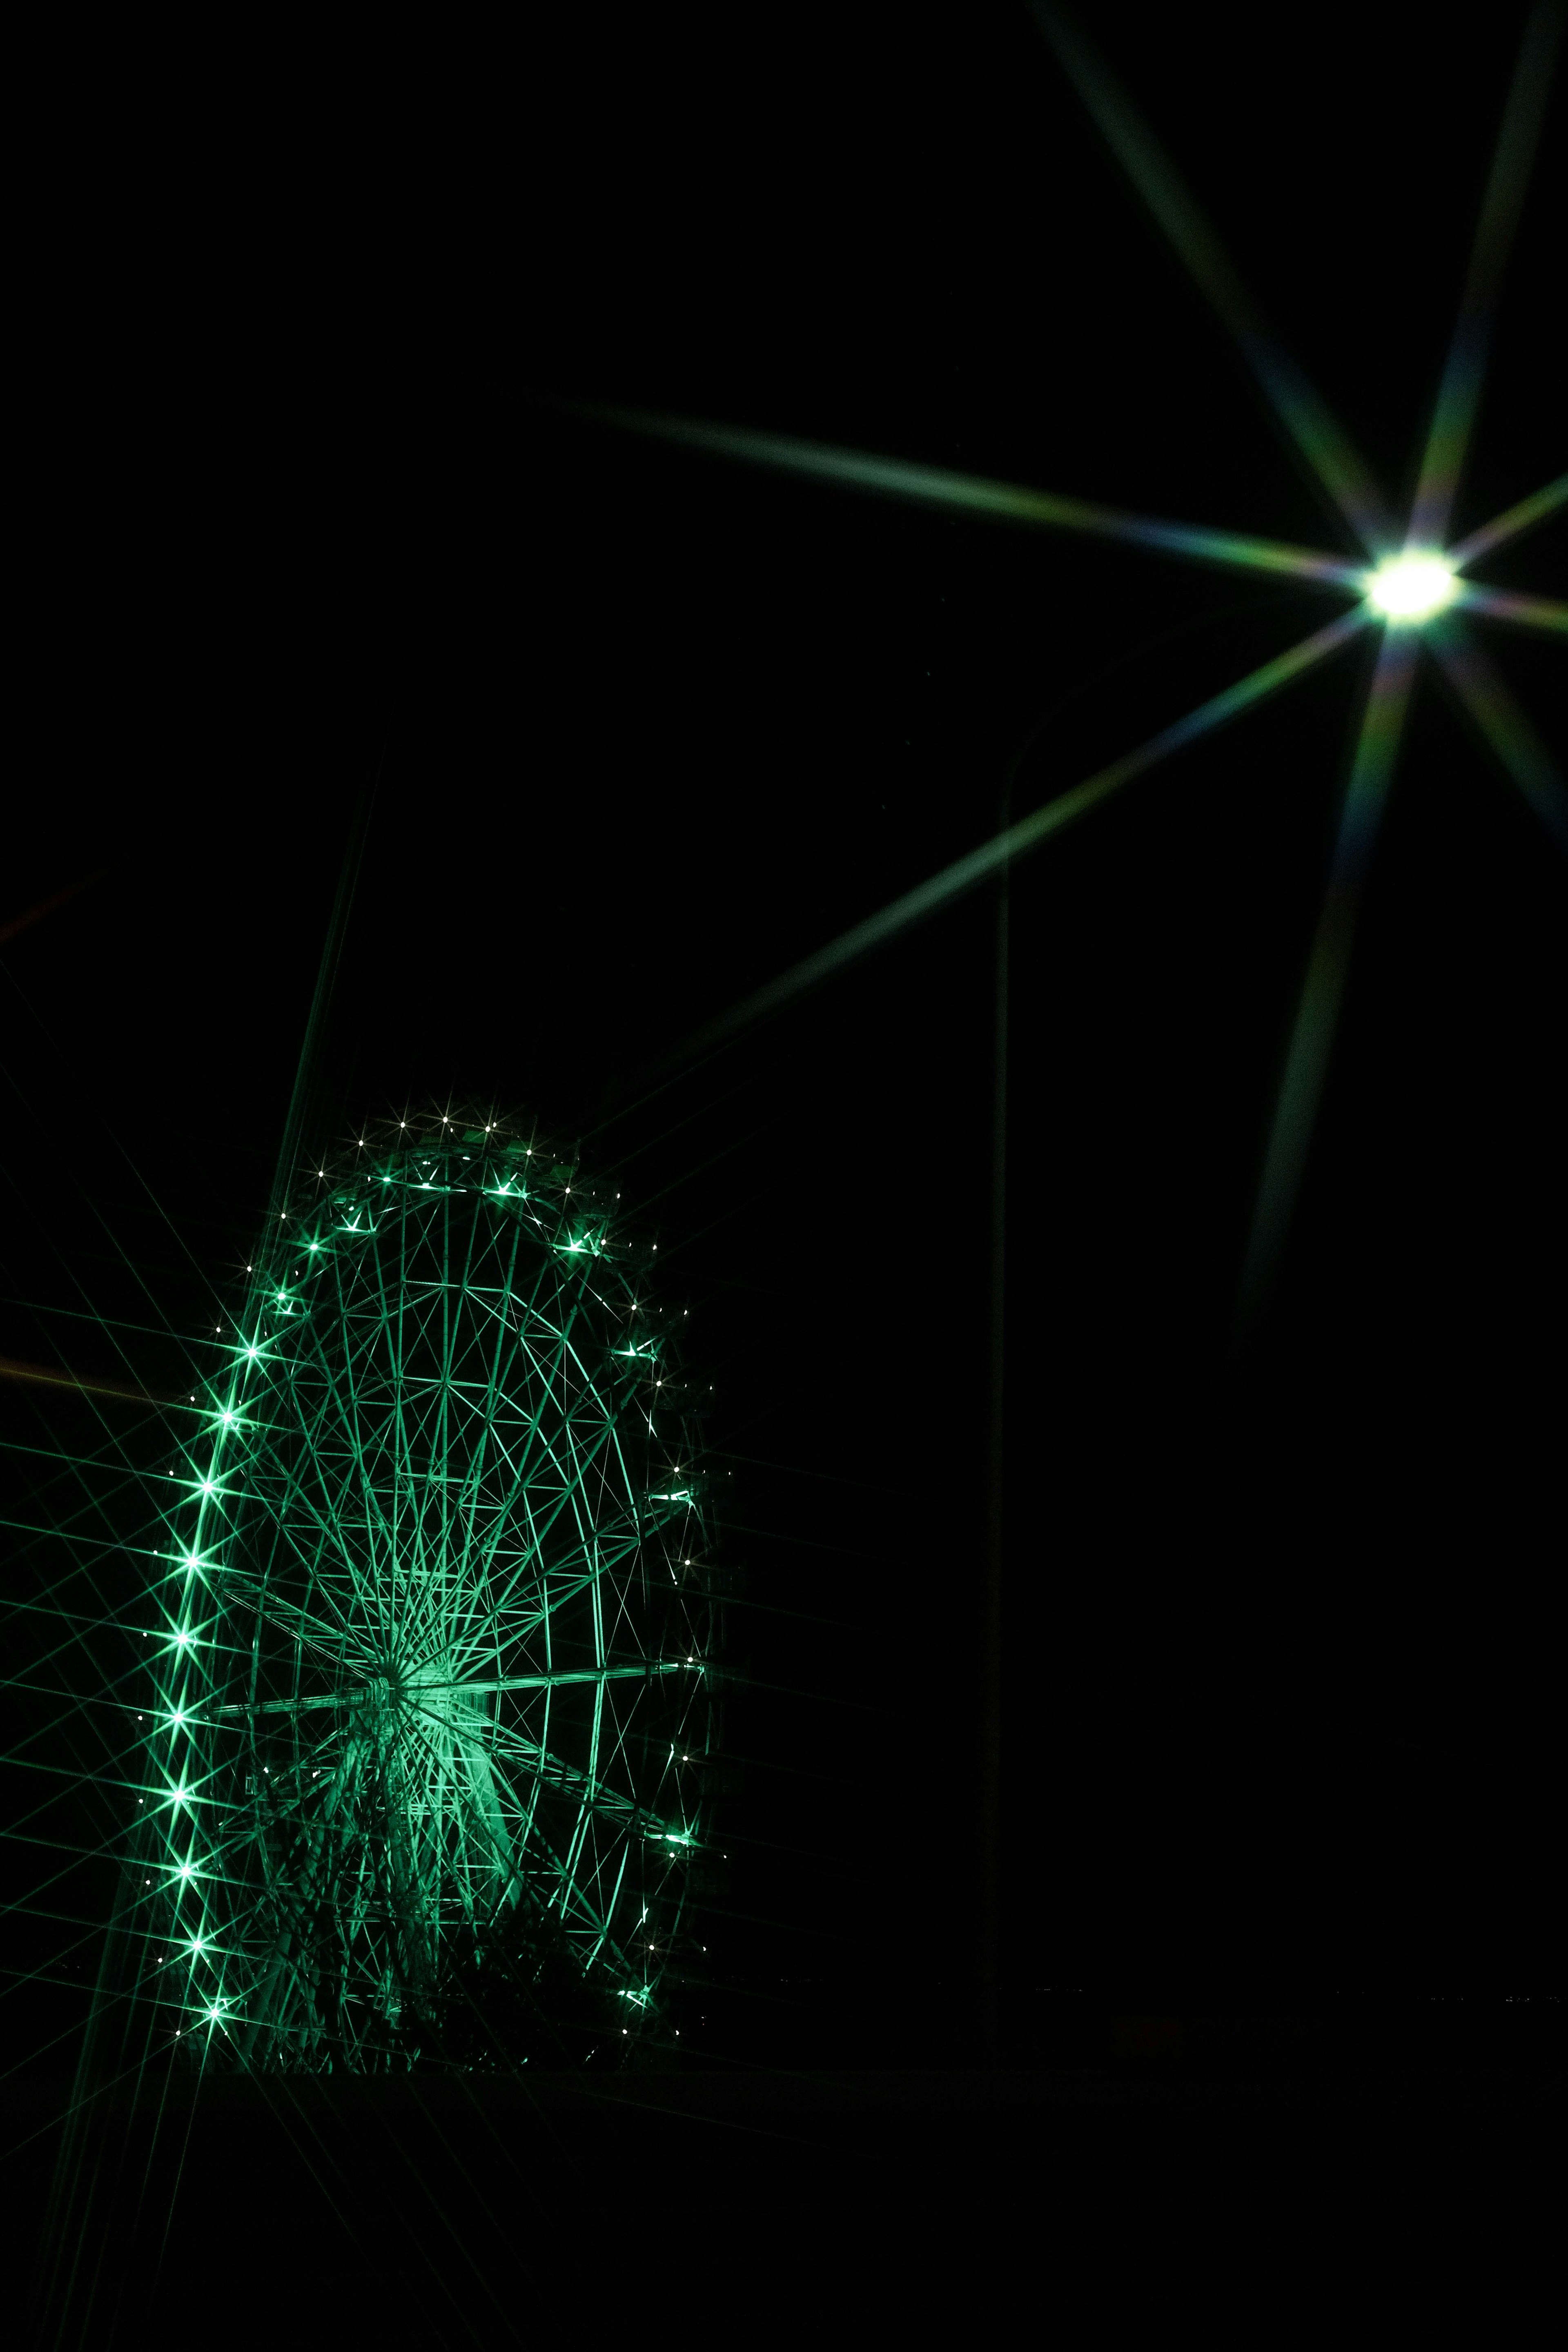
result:
<svg viewBox="0 0 1568 2352"><path fill-rule="evenodd" d="M1368 555L1387 555L1394 524L1349 435L1307 383L1295 362L1262 329L1208 221L1192 202L1164 148L1117 87L1100 59L1053 7L1034 0L1034 19L1093 115L1095 129L1175 247L1187 273L1229 327L1269 407L1340 508Z"/></svg>

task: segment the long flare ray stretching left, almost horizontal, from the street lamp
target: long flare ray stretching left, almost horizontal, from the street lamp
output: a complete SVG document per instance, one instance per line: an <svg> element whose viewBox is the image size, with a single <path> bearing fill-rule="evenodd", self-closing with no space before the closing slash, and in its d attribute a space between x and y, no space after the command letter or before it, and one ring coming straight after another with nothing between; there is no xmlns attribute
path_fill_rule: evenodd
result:
<svg viewBox="0 0 1568 2352"><path fill-rule="evenodd" d="M860 449L835 449L825 442L792 440L780 433L752 433L745 426L715 426L686 416L656 416L644 409L578 407L574 414L625 433L705 449L710 456L743 459L780 473L818 475L884 499L907 499L917 506L959 508L997 522L1032 522L1056 532L1091 532L1100 539L1126 539L1199 564L1232 564L1241 572L1274 572L1328 588L1359 590L1363 567L1295 548L1281 539L1253 539L1244 532L1213 532L1194 522L1161 522L1157 515L1128 515L1091 499L1060 499L1048 489L1020 482L992 482L985 475L947 473L907 459L867 456Z"/></svg>

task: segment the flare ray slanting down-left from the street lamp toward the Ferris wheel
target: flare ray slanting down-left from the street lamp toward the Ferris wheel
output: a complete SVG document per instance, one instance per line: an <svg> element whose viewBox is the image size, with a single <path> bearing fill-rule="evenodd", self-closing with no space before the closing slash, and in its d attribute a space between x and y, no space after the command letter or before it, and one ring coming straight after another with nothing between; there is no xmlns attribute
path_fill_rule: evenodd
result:
<svg viewBox="0 0 1568 2352"><path fill-rule="evenodd" d="M1293 677L1300 677L1319 661L1338 654L1338 649L1349 644L1349 640L1368 628L1373 619L1375 616L1368 607L1356 607L1356 612L1340 614L1338 621L1314 630L1312 637L1302 637L1300 644L1276 654L1274 661L1265 661L1258 670L1237 680L1234 687L1225 687L1222 694L1211 696L1211 701L1199 703L1197 710L1190 710L1171 727L1164 727L1157 736L1150 736L1150 741L1140 743L1138 750L1124 753L1084 783L1072 786L1067 793L1058 793L1056 800L1034 809L1032 816L1020 818L1016 826L997 833L990 842L983 842L966 856L954 858L952 866L931 875L929 882L919 882L912 891L905 891L903 898L893 898L891 906L884 906L882 913L867 915L865 922L853 924L825 948L806 955L790 971L769 981L766 988L743 997L743 1002L731 1007L731 1011L722 1014L717 1021L708 1023L708 1028L689 1037L686 1047L675 1058L689 1061L696 1054L724 1044L738 1030L750 1028L752 1021L762 1021L766 1014L778 1011L792 997L799 997L806 988L816 988L818 981L842 971L860 955L867 955L872 948L882 948L889 938L896 938L898 931L907 931L910 924L924 922L926 915L936 915L940 908L952 906L952 901L961 898L964 891L976 889L1013 858L1020 858L1025 851L1048 840L1048 835L1060 833L1065 826L1074 823L1074 818L1086 816L1088 809L1110 800L1112 793L1117 793L1124 783L1131 783L1135 776L1145 776L1161 760L1168 760L1171 753L1182 750L1185 743L1197 743L1199 736L1213 734L1215 727L1239 717L1244 710L1251 710L1253 703L1260 703L1265 696L1291 684Z"/></svg>

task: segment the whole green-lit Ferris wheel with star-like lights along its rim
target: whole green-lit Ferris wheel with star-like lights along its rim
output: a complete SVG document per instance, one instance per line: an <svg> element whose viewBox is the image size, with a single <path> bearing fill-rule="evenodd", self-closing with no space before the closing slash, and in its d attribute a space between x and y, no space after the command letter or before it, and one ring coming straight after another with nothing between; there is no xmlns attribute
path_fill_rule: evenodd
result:
<svg viewBox="0 0 1568 2352"><path fill-rule="evenodd" d="M656 2025L712 1625L654 1268L498 1120L367 1131L275 1221L146 1635L146 1980L207 2063Z"/></svg>

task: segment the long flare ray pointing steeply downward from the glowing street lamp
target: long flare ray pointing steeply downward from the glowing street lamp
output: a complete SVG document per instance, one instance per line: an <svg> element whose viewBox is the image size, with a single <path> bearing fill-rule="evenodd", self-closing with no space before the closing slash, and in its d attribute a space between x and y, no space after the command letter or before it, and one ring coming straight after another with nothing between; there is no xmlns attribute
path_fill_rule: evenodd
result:
<svg viewBox="0 0 1568 2352"><path fill-rule="evenodd" d="M1385 630L1366 710L1361 713L1328 891L1324 894L1324 908L1307 957L1307 978L1274 1105L1269 1148L1262 1162L1262 1183L1258 1188L1241 1277L1241 1327L1251 1324L1267 1296L1295 1195L1300 1192L1312 1127L1328 1073L1333 1030L1345 995L1345 976L1349 971L1356 908L1410 708L1415 659L1415 630Z"/></svg>

